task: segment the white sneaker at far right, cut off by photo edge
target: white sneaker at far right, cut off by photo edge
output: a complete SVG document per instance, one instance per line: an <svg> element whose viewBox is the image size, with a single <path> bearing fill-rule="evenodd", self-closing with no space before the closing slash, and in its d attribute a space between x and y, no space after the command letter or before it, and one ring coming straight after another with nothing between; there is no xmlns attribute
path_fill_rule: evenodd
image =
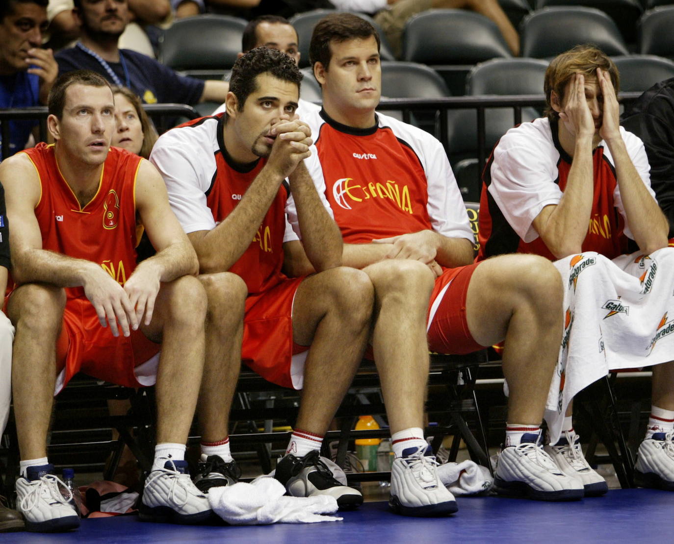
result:
<svg viewBox="0 0 674 544"><path fill-rule="evenodd" d="M674 491L674 433L656 432L639 446L634 465L634 483Z"/></svg>

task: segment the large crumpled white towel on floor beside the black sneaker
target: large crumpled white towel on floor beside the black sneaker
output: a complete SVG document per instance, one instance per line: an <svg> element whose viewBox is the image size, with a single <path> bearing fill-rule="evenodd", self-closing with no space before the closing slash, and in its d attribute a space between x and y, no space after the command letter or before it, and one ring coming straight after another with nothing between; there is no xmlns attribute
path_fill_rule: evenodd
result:
<svg viewBox="0 0 674 544"><path fill-rule="evenodd" d="M337 512L334 497L286 497L285 492L285 487L278 480L261 476L251 483L212 487L208 490L208 502L218 516L232 525L342 520L321 515Z"/></svg>

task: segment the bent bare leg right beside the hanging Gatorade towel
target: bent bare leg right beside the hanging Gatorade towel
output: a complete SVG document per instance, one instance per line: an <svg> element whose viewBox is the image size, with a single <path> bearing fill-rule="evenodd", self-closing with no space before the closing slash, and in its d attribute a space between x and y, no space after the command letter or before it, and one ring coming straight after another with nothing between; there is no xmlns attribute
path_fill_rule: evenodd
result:
<svg viewBox="0 0 674 544"><path fill-rule="evenodd" d="M562 335L562 288L555 267L534 255L484 261L472 275L466 298L468 329L475 341L505 339L508 421L539 425Z"/></svg>

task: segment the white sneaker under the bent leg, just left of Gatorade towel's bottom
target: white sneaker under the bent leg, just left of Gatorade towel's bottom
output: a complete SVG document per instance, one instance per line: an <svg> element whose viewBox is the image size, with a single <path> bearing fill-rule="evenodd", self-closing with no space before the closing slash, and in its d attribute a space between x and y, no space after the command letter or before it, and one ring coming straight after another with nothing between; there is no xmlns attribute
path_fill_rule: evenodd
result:
<svg viewBox="0 0 674 544"><path fill-rule="evenodd" d="M538 443L539 434L524 433L520 444L505 446L499 453L494 473L494 491L510 497L535 500L578 500L583 484L559 470Z"/></svg>

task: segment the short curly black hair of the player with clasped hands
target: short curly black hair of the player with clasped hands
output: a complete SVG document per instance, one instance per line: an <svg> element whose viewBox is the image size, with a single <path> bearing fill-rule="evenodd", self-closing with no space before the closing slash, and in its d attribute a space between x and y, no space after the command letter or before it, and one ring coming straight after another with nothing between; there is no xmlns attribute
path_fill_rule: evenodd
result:
<svg viewBox="0 0 674 544"><path fill-rule="evenodd" d="M234 63L229 79L229 90L239 101L239 111L252 92L257 90L257 78L261 73L270 73L283 81L297 83L299 92L302 73L295 61L277 49L255 47Z"/></svg>

